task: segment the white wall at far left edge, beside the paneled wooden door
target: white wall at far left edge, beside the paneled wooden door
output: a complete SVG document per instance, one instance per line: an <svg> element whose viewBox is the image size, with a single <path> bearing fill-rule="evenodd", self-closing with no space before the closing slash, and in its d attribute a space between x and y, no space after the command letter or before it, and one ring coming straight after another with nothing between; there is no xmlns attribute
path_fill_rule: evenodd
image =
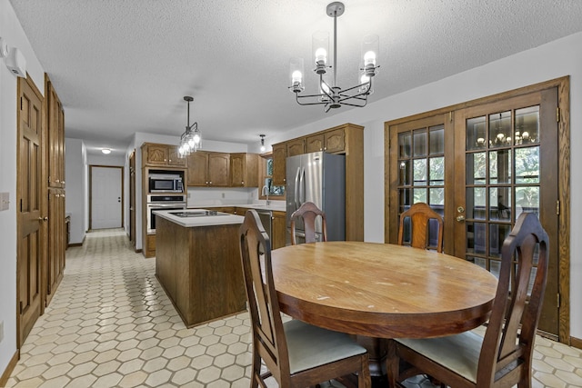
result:
<svg viewBox="0 0 582 388"><path fill-rule="evenodd" d="M0 36L25 55L28 75L44 93L44 70L8 0L0 0ZM0 193L10 195L10 208L0 212L0 374L16 352L16 78L0 59Z"/></svg>

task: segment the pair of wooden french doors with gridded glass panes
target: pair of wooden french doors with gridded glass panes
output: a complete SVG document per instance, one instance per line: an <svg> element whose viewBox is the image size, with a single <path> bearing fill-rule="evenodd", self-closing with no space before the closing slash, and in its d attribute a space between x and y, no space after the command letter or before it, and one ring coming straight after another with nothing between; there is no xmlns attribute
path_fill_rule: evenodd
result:
<svg viewBox="0 0 582 388"><path fill-rule="evenodd" d="M443 215L444 252L497 275L517 216L537 214L550 237L538 328L555 338L562 316L558 112L551 87L386 123L386 241L396 244L399 214L426 202Z"/></svg>

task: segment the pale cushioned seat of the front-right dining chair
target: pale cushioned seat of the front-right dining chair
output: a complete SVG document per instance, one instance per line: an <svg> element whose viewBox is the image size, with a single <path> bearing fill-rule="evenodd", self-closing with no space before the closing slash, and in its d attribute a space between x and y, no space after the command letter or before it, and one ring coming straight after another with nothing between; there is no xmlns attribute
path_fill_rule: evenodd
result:
<svg viewBox="0 0 582 388"><path fill-rule="evenodd" d="M439 338L396 339L398 343L409 347L416 353L424 355L447 369L477 383L477 364L483 337L473 332Z"/></svg>

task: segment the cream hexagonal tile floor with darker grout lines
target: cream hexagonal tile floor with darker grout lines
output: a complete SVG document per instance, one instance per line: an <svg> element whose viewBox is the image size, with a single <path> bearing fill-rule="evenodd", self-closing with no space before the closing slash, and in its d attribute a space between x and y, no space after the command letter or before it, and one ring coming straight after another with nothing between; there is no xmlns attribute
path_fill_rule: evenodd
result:
<svg viewBox="0 0 582 388"><path fill-rule="evenodd" d="M249 341L246 313L186 329L155 259L135 254L122 230L103 230L66 251L65 278L7 386L248 387ZM535 358L534 387L582 387L582 351L537 338Z"/></svg>

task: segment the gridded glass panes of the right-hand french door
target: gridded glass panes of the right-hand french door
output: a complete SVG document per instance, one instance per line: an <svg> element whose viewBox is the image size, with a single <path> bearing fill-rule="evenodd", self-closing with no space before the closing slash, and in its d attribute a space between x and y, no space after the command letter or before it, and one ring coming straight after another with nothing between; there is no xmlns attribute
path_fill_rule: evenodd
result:
<svg viewBox="0 0 582 388"><path fill-rule="evenodd" d="M539 215L539 105L466 119L467 260L498 274L517 215Z"/></svg>

